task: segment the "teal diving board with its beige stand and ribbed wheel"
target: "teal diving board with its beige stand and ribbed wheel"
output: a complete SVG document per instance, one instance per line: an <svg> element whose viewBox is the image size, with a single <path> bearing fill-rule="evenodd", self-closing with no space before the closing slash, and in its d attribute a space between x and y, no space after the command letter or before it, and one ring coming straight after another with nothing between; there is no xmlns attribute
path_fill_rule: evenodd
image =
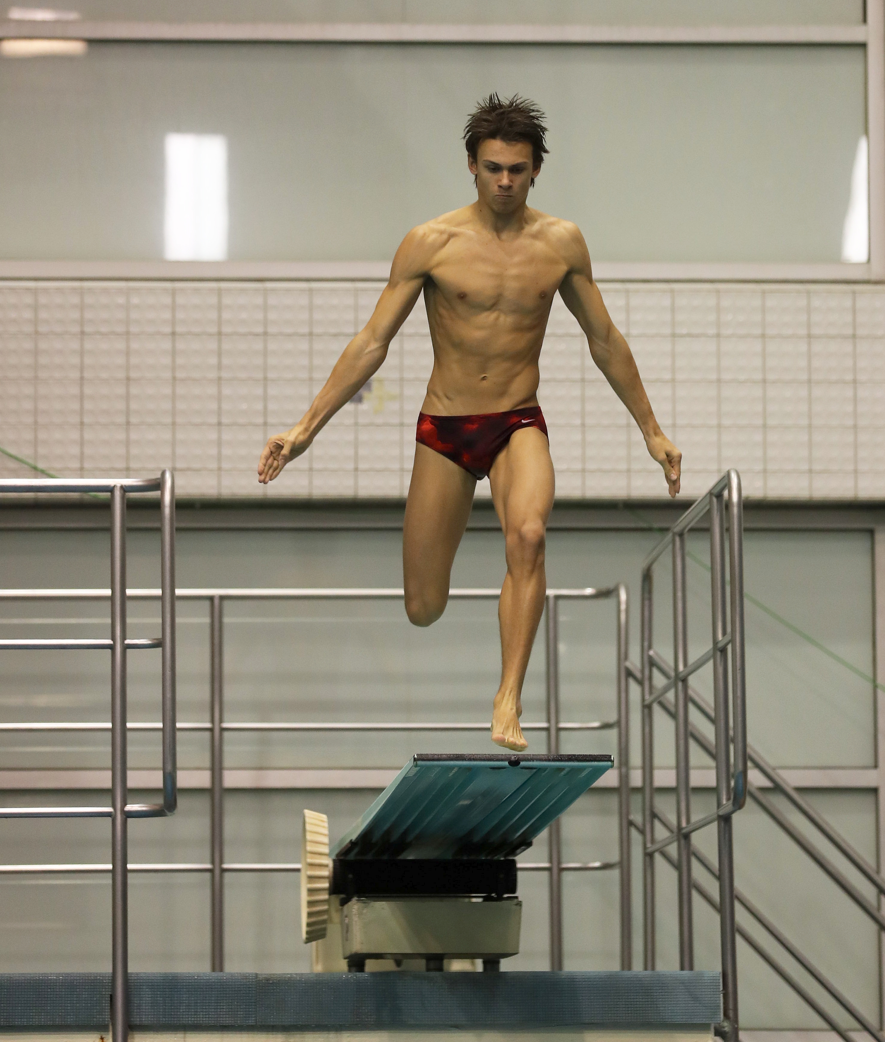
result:
<svg viewBox="0 0 885 1042"><path fill-rule="evenodd" d="M314 968L363 972L367 960L392 959L497 970L519 951L516 857L612 764L416 753L331 849L326 816L304 811L301 937Z"/></svg>

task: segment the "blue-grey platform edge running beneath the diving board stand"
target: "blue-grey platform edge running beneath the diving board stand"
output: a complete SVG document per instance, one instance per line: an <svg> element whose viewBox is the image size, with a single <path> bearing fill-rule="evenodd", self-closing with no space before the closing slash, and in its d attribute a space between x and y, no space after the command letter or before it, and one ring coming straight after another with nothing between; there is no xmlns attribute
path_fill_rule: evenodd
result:
<svg viewBox="0 0 885 1042"><path fill-rule="evenodd" d="M129 1020L132 1042L206 1042L220 1031L249 1042L388 1042L452 1029L476 1042L539 1032L699 1042L721 1020L720 991L719 974L705 970L130 973ZM0 974L0 1042L106 1039L109 996L109 973Z"/></svg>

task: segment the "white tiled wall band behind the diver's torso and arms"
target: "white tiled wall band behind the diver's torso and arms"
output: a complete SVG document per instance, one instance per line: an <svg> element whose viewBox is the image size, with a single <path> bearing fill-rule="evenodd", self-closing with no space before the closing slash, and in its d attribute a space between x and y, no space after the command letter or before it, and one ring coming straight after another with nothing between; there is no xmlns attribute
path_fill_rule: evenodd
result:
<svg viewBox="0 0 885 1042"><path fill-rule="evenodd" d="M885 288L604 284L683 491L885 498ZM271 486L271 433L306 408L380 284L0 283L0 447L59 475L176 472L183 496L401 497L432 365L421 301L358 403ZM665 494L557 298L539 398L561 498ZM0 474L28 469L0 455ZM488 482L477 487L488 495Z"/></svg>

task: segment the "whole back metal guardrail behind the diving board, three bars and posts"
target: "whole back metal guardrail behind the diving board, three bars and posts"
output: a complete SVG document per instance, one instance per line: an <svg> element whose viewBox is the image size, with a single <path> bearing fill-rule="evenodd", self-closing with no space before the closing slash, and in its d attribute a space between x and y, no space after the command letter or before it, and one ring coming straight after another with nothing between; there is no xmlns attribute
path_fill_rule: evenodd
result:
<svg viewBox="0 0 885 1042"><path fill-rule="evenodd" d="M449 597L454 600L497 599L499 590L459 589ZM109 590L0 590L0 600L106 600ZM152 589L131 589L127 597L132 600L155 600L162 591ZM211 920L213 970L224 968L224 875L227 872L297 872L297 862L288 863L228 863L224 861L224 789L223 761L224 735L230 731L488 731L487 723L474 722L425 722L407 721L357 721L357 722L313 722L313 721L224 721L224 602L228 600L402 600L401 589L310 589L310 588L205 588L179 589L179 600L203 600L210 607L210 664L211 699L210 719L204 722L179 723L179 730L202 731L211 736L211 860L205 863L189 864L139 864L130 865L137 872L207 872L212 875ZM617 625L617 681L615 716L610 720L588 722L560 720L559 698L559 604L562 600L598 600L613 598L616 601ZM559 750L559 736L563 731L618 730L618 859L616 861L563 862L559 825L549 830L549 853L545 862L520 863L522 871L546 871L549 873L550 904L550 968L562 969L562 872L603 871L618 868L620 884L620 963L621 968L632 966L632 895L630 863L630 744L629 744L629 699L628 684L638 683L639 671L628 661L628 592L623 585L600 589L554 589L546 594L544 639L546 643L546 716L545 721L522 724L527 731L546 731L549 752ZM128 723L129 730L156 730L161 724L154 722ZM106 731L113 725L106 722L24 722L0 724L2 730L19 731ZM0 874L40 874L55 872L106 872L104 864L79 865L6 865L0 866Z"/></svg>

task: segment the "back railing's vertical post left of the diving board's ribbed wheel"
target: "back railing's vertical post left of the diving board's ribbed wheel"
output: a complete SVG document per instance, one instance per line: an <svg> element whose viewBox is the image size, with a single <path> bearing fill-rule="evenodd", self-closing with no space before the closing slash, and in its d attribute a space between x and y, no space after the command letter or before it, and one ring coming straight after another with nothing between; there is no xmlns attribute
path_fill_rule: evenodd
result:
<svg viewBox="0 0 885 1042"><path fill-rule="evenodd" d="M224 969L224 643L222 600L216 595L210 605L211 687L212 687L212 968Z"/></svg>

